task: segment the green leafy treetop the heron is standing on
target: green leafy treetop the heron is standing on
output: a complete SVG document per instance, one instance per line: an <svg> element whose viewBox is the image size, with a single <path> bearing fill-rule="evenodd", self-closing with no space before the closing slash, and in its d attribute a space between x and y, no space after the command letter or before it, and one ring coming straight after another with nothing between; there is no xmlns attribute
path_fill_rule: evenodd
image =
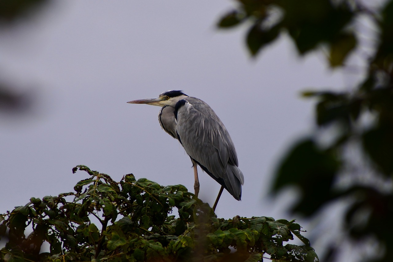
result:
<svg viewBox="0 0 393 262"><path fill-rule="evenodd" d="M79 181L75 192L32 197L0 215L6 242L1 260L257 262L269 255L281 262L319 261L294 221L224 220L182 185L164 187L132 174L118 183L86 166L73 172L77 169L90 177ZM304 245L284 245L294 236ZM44 242L48 252L41 250Z"/></svg>

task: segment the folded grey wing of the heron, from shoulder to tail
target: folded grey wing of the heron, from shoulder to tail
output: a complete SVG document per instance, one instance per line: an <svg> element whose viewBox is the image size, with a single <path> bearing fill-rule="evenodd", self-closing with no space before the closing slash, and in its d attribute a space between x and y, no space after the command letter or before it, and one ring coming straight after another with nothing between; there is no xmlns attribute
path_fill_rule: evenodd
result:
<svg viewBox="0 0 393 262"><path fill-rule="evenodd" d="M243 173L232 139L219 117L204 101L188 97L178 108L176 132L187 154L235 199L241 199Z"/></svg>

